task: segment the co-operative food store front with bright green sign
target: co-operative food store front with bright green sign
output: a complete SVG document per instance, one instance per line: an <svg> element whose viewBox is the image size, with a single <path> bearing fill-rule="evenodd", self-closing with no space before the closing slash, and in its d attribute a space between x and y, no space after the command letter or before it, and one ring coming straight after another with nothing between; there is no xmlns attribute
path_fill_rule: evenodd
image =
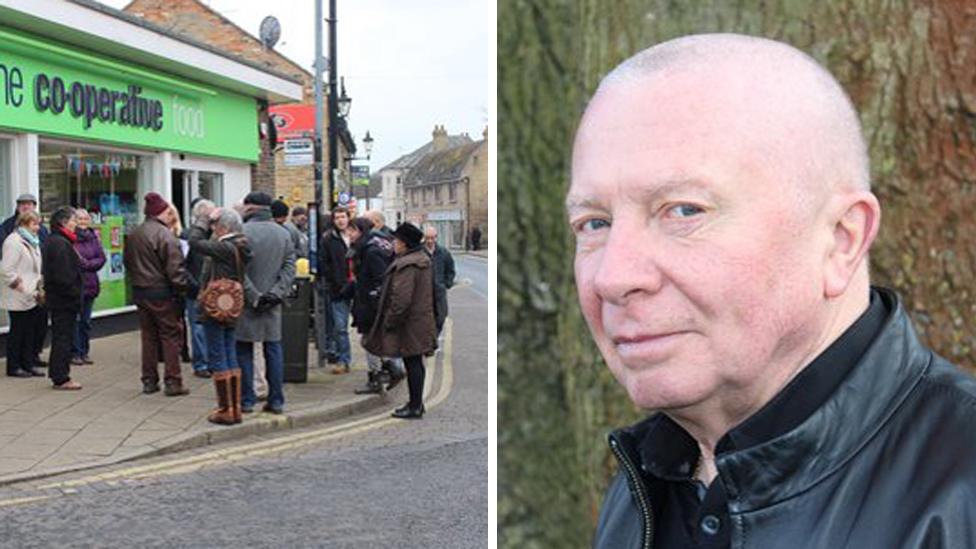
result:
<svg viewBox="0 0 976 549"><path fill-rule="evenodd" d="M130 310L122 252L126 235L143 219L142 197L149 191L168 197L184 220L194 197L223 205L242 198L260 151L256 98L265 94L182 77L172 57L170 71L161 71L133 62L151 60L150 52L120 46L128 55L113 57L3 26L6 20L0 17L0 214L11 215L21 193L39 198L45 219L65 204L87 209L108 258L95 314ZM101 24L154 32L115 18ZM214 55L199 48L184 54L186 63ZM225 58L211 61L225 72L237 70L238 78L254 70ZM199 65L187 72L199 76ZM299 85L275 84L282 83L300 97Z"/></svg>

